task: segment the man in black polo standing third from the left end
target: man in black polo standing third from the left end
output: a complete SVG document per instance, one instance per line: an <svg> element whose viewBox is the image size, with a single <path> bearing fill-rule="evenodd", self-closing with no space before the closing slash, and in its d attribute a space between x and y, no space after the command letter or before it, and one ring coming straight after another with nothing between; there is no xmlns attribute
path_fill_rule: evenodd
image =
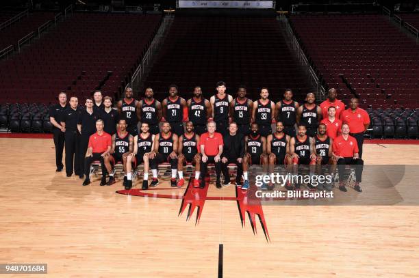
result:
<svg viewBox="0 0 419 278"><path fill-rule="evenodd" d="M84 156L88 149L89 137L96 132L96 121L99 120L99 112L93 110L92 98L86 99L86 110L80 111L77 129L80 133L79 167L80 178L84 178Z"/></svg>

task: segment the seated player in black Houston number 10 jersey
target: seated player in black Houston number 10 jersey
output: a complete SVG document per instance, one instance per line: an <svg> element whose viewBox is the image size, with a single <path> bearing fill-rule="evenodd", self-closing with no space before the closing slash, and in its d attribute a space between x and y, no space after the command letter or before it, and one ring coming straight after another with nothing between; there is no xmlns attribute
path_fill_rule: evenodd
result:
<svg viewBox="0 0 419 278"><path fill-rule="evenodd" d="M151 173L153 173L153 180L150 186L157 186L159 180L157 179L157 168L160 163L168 162L172 169L172 178L170 178L170 186L176 186L177 173L177 146L178 137L175 133L170 131L170 124L164 122L162 124L162 132L154 137L154 149L151 151L149 158Z"/></svg>

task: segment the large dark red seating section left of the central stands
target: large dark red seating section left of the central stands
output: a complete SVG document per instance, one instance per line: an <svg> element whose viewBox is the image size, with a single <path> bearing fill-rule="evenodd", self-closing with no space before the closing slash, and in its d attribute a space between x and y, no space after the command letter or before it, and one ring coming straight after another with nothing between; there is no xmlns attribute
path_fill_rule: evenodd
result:
<svg viewBox="0 0 419 278"><path fill-rule="evenodd" d="M147 50L161 16L73 14L19 55L0 63L0 103L50 103L58 92L115 96Z"/></svg>

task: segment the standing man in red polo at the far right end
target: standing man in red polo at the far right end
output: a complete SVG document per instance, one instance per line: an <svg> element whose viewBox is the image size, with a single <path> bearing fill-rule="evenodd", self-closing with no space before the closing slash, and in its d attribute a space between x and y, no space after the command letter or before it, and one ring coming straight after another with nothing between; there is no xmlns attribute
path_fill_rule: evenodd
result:
<svg viewBox="0 0 419 278"><path fill-rule="evenodd" d="M364 133L370 126L370 115L358 107L358 99L351 98L349 108L342 112L342 123L348 124L351 136L357 139L359 158L362 158L362 145L364 144Z"/></svg>

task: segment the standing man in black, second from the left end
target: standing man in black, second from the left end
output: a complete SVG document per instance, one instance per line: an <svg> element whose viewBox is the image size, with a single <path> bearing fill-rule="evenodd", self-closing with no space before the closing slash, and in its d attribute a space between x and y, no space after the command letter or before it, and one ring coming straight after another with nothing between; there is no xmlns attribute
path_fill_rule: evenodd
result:
<svg viewBox="0 0 419 278"><path fill-rule="evenodd" d="M70 107L63 113L61 125L64 126L64 142L66 145L66 174L71 177L74 173L77 176L83 175L79 167L79 137L77 129L79 122L79 100L76 96L70 98Z"/></svg>

